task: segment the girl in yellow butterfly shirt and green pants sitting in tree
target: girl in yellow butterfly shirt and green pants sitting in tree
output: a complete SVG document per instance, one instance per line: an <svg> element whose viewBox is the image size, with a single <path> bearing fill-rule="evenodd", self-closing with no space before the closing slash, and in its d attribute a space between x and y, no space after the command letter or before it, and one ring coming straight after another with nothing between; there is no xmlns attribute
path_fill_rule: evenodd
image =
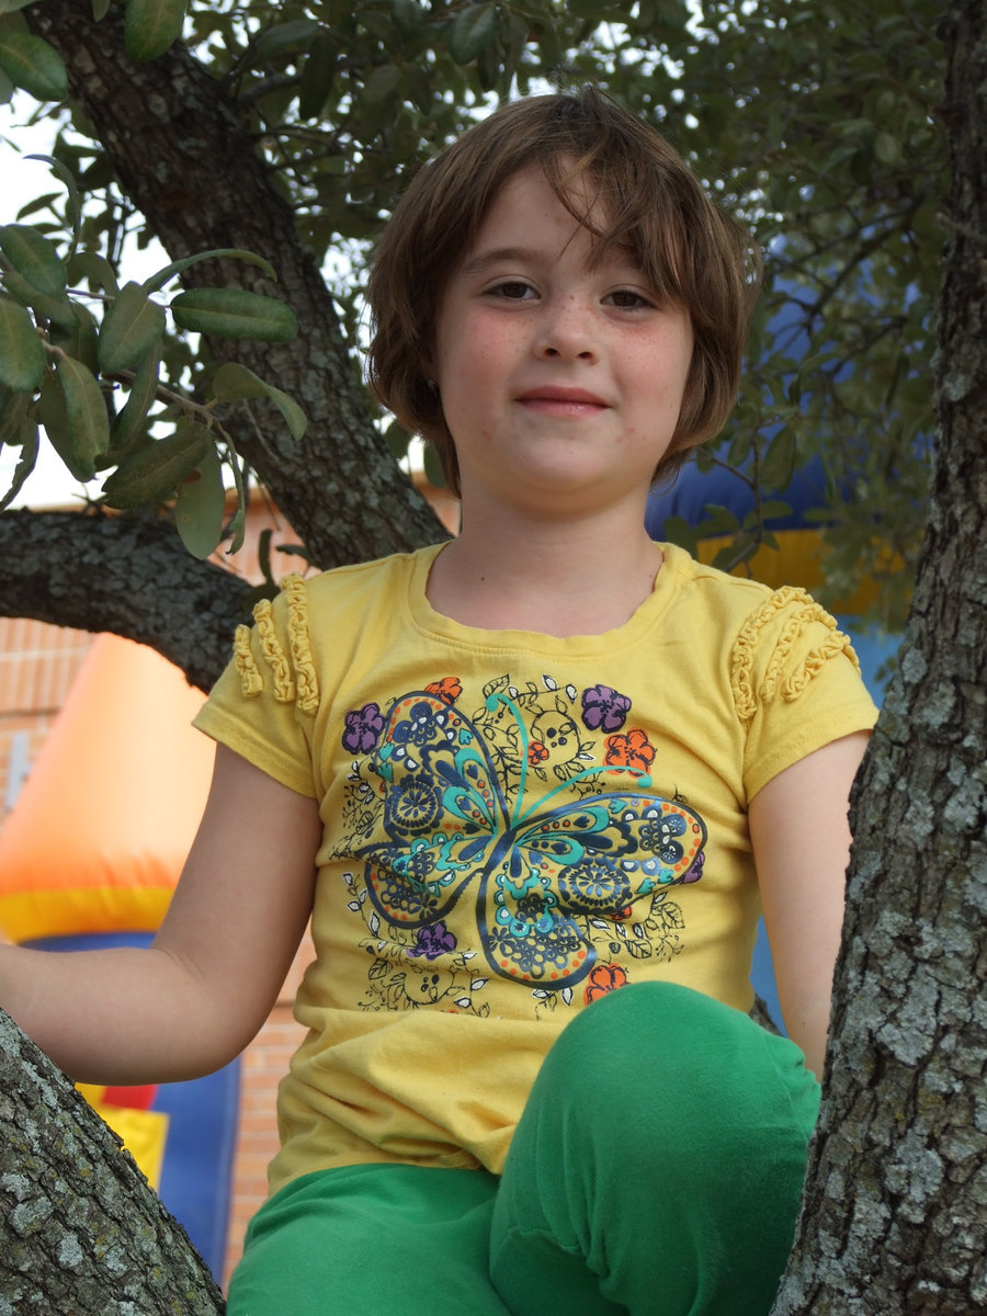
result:
<svg viewBox="0 0 987 1316"><path fill-rule="evenodd" d="M874 709L801 591L644 530L728 415L755 274L592 89L425 167L371 382L461 534L290 579L237 633L150 950L4 948L4 1004L70 1073L178 1079L253 1037L312 917L233 1316L770 1309ZM746 1015L762 908L794 1041Z"/></svg>

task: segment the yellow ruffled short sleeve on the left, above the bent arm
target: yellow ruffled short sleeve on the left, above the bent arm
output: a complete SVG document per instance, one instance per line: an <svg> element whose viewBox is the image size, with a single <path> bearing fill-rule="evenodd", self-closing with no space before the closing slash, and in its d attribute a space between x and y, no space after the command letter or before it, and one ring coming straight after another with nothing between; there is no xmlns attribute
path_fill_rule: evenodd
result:
<svg viewBox="0 0 987 1316"><path fill-rule="evenodd" d="M193 725L283 786L316 797L317 709L305 584L288 576L274 601L257 604L253 626L237 626L233 657Z"/></svg>

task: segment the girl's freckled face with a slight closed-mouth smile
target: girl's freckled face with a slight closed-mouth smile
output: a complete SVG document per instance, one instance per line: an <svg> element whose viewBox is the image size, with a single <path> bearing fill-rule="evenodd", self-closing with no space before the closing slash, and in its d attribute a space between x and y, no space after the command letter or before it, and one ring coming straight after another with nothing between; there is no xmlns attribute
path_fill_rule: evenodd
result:
<svg viewBox="0 0 987 1316"><path fill-rule="evenodd" d="M592 192L588 195L592 203ZM463 503L540 515L644 503L692 359L688 313L592 236L542 172L503 187L440 303L430 362Z"/></svg>

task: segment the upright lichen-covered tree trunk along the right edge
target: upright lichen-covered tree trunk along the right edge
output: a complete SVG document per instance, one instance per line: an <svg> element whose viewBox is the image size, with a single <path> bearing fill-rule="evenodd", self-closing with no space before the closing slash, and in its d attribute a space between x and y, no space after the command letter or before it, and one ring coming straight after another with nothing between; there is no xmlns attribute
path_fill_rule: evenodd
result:
<svg viewBox="0 0 987 1316"><path fill-rule="evenodd" d="M854 790L833 1041L774 1316L987 1309L987 17L944 28L951 196L932 509Z"/></svg>

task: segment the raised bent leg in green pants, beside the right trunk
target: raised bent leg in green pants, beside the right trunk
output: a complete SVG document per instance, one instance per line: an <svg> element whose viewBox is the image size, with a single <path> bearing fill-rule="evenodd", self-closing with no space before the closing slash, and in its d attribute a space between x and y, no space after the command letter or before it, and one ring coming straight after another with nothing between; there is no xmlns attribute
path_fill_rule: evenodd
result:
<svg viewBox="0 0 987 1316"><path fill-rule="evenodd" d="M801 1053L686 987L625 987L549 1053L497 1194L516 1316L766 1316L819 1084Z"/></svg>

